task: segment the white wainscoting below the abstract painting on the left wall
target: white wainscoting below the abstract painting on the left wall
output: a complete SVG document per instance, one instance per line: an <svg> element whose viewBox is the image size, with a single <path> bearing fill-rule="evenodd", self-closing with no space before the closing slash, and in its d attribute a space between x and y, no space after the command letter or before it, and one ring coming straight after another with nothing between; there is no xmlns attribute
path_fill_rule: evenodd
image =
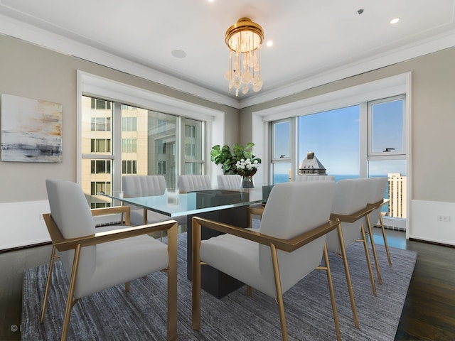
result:
<svg viewBox="0 0 455 341"><path fill-rule="evenodd" d="M0 250L49 242L42 218L48 212L48 200L0 204Z"/></svg>

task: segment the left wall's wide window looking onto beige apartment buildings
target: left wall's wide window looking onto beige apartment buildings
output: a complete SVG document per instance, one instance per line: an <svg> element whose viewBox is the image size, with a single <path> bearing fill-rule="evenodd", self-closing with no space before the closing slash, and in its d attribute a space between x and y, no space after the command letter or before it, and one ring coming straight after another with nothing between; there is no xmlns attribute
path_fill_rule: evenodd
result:
<svg viewBox="0 0 455 341"><path fill-rule="evenodd" d="M87 96L81 104L80 183L90 207L109 206L97 193L121 190L124 174L164 175L176 188L179 173L203 173L202 121Z"/></svg>

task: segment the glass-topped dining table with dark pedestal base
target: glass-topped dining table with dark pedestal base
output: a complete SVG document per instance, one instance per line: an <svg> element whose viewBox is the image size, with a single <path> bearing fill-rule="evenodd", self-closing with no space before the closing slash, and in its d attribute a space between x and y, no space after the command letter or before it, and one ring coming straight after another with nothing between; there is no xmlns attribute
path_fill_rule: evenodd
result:
<svg viewBox="0 0 455 341"><path fill-rule="evenodd" d="M191 280L191 249L193 216L232 224L237 227L248 227L249 219L247 207L267 201L273 186L255 188L218 188L196 190L189 193L178 193L178 190L166 190L164 195L146 197L125 197L122 192L113 192L112 195L103 194L114 200L113 204L123 202L135 205L146 210L173 217L186 216L187 222L187 278ZM202 239L215 237L219 232L203 227ZM213 296L222 298L228 293L240 288L243 283L237 281L211 266L203 266L201 271L201 288Z"/></svg>

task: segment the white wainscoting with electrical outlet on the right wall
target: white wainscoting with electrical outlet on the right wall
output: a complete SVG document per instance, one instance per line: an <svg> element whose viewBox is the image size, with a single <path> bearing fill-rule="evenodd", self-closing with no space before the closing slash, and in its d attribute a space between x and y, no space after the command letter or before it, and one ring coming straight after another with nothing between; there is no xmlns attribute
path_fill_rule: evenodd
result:
<svg viewBox="0 0 455 341"><path fill-rule="evenodd" d="M455 245L455 203L411 200L409 237ZM440 221L438 217L448 217Z"/></svg>

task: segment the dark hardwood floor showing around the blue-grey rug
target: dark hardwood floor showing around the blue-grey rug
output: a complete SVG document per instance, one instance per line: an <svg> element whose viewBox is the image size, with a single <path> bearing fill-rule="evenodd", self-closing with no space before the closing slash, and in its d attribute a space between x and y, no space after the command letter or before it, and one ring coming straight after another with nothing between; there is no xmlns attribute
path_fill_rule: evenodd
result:
<svg viewBox="0 0 455 341"><path fill-rule="evenodd" d="M380 229L374 229L379 234ZM417 251L395 340L455 340L455 248L405 239L387 230L390 247ZM375 237L381 244L382 237ZM49 261L50 245L0 253L0 340L21 340L23 270Z"/></svg>

